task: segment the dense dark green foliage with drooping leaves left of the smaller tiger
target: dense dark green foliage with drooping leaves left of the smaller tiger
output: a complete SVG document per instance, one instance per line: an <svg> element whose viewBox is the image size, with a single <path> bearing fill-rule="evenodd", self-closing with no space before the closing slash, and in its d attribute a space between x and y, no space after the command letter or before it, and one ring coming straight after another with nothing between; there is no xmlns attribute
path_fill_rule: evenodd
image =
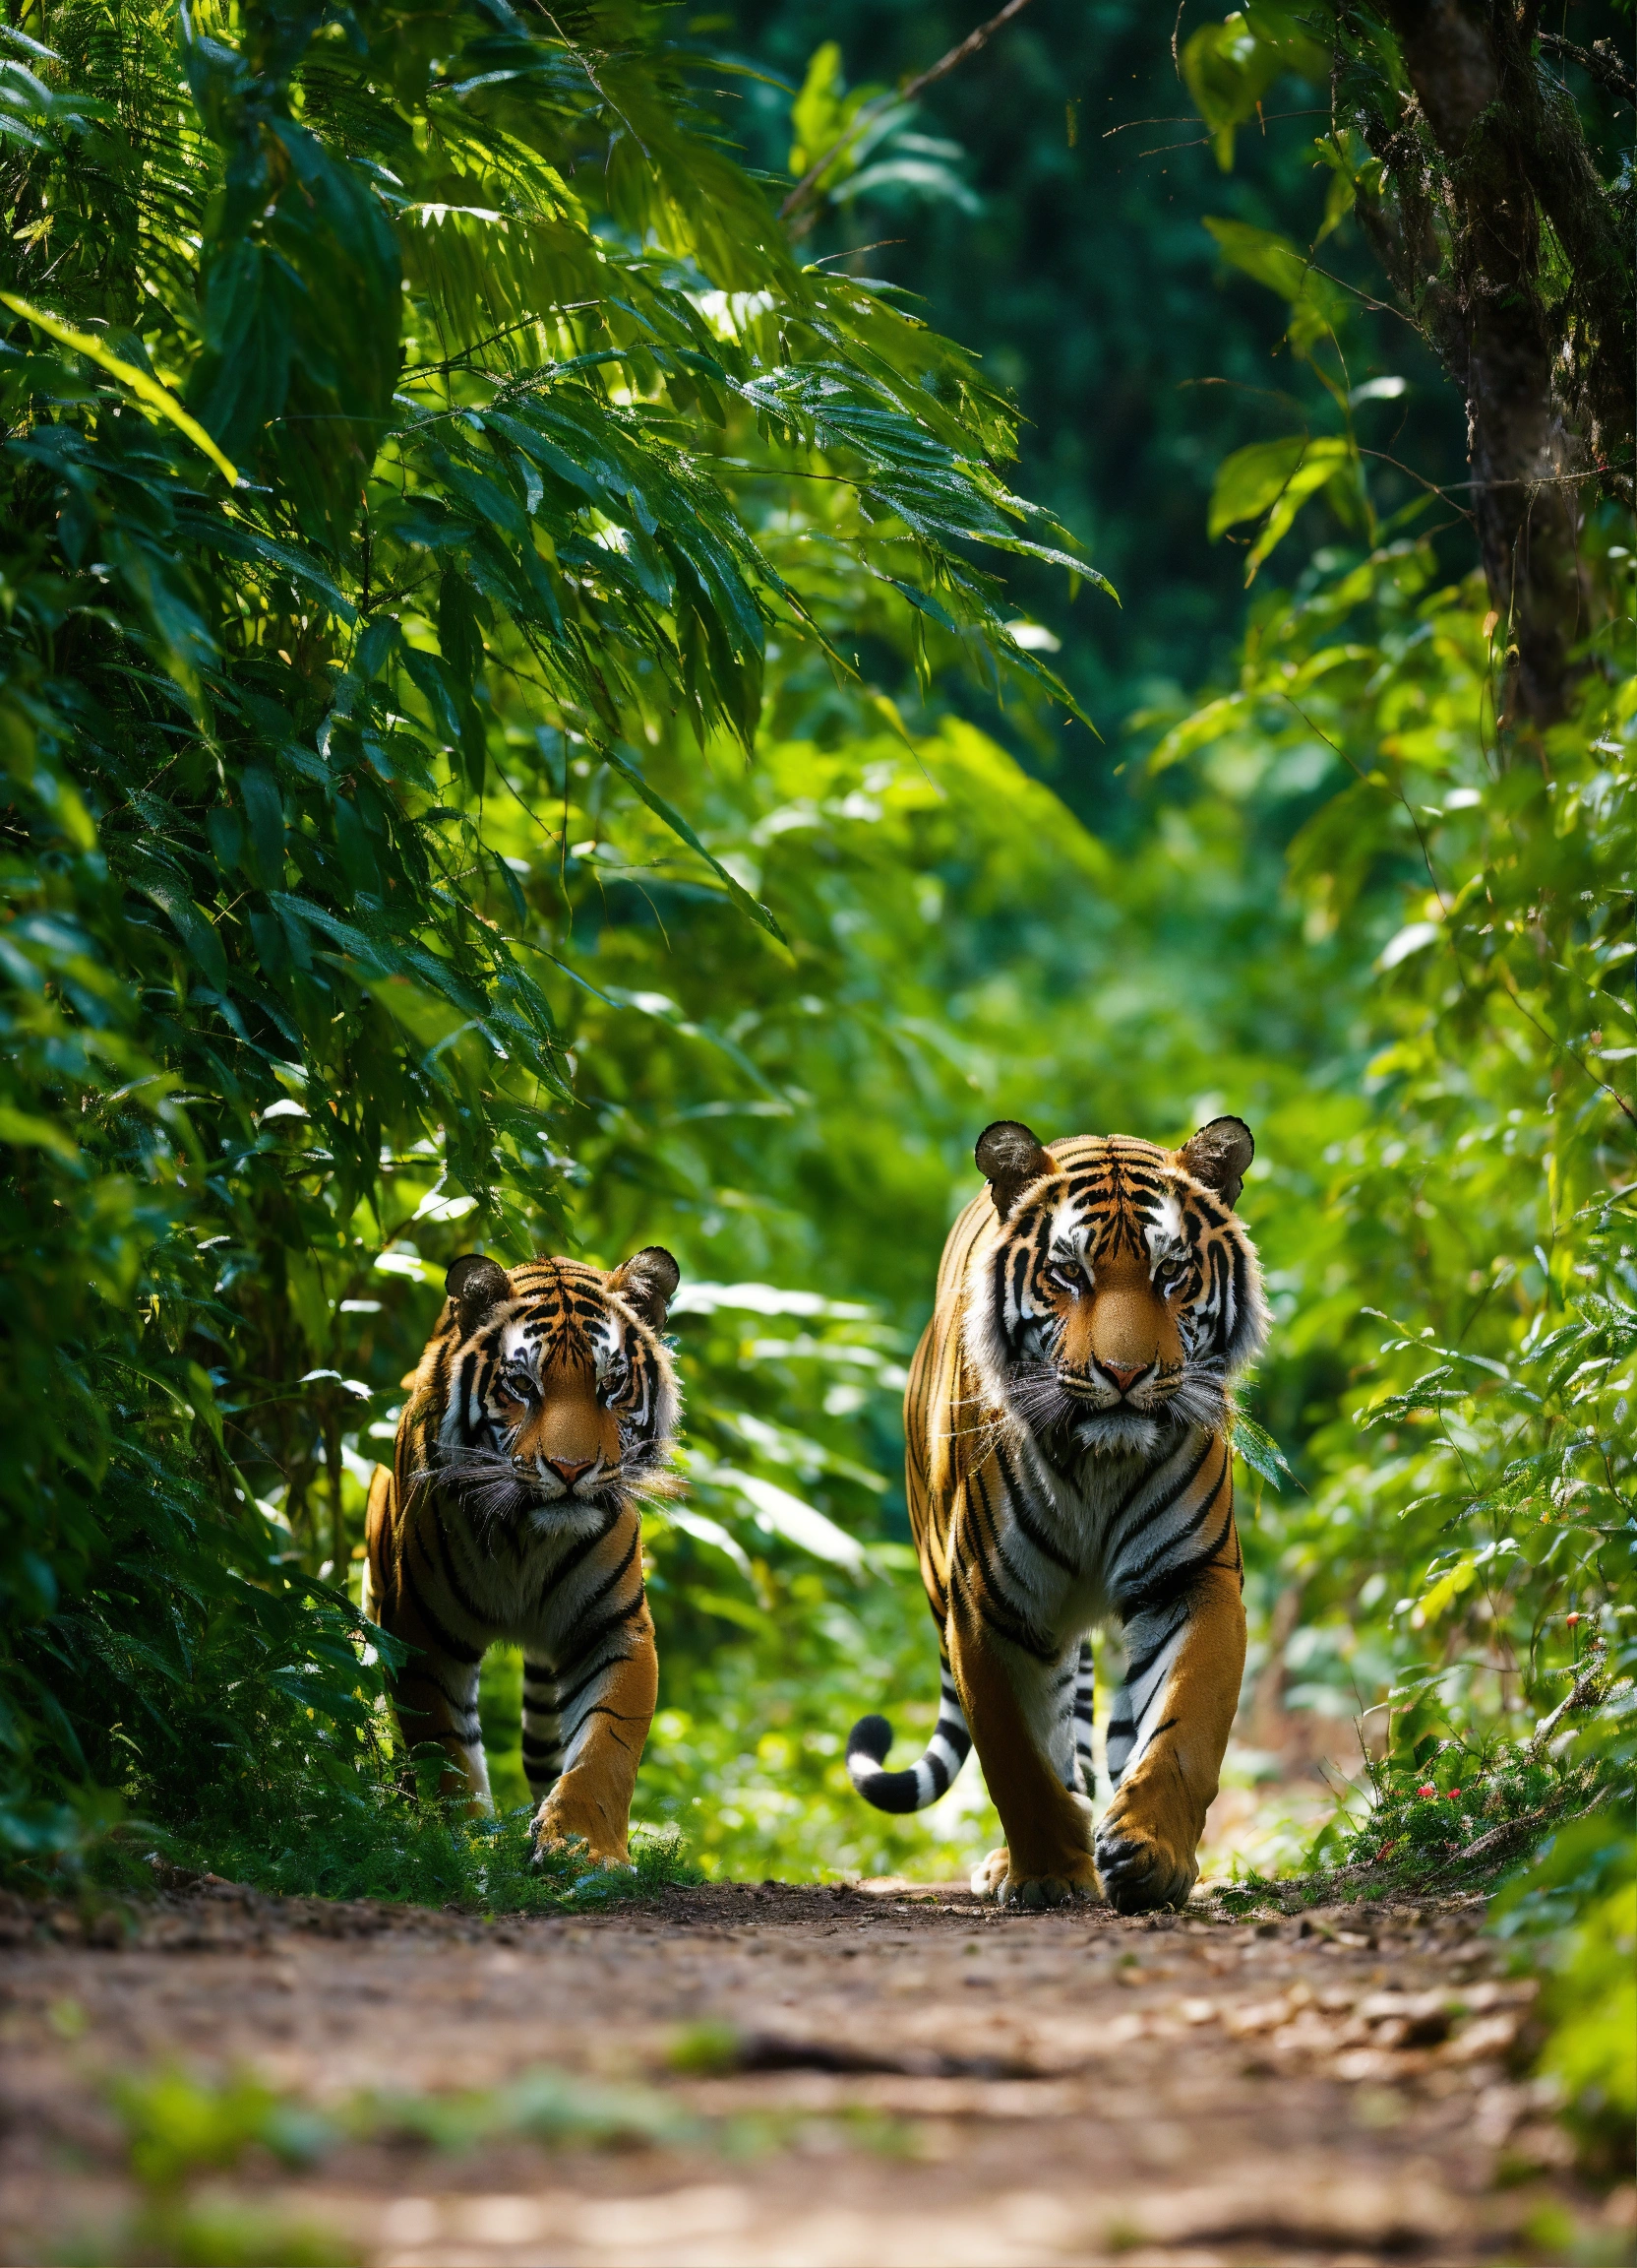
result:
<svg viewBox="0 0 1637 2268"><path fill-rule="evenodd" d="M771 633L846 676L864 576L925 667L1050 687L973 547L1072 565L1002 397L796 265L660 18L82 0L52 39L0 120L11 1848L365 1726L345 1318L397 1379L429 1309L381 1275L435 1281L465 1213L565 1236L494 814L533 846L578 764L775 932L680 735L750 742Z"/></svg>

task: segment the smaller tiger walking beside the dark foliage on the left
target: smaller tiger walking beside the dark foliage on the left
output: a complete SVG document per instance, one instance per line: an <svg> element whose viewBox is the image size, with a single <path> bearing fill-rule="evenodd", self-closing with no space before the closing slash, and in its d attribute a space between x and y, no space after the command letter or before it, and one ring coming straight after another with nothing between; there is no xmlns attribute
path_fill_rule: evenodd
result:
<svg viewBox="0 0 1637 2268"><path fill-rule="evenodd" d="M494 1808L478 1669L497 1640L524 1651L535 1862L574 1842L630 1862L660 1685L639 1504L676 1490L660 1334L678 1281L662 1245L610 1272L463 1254L370 1488L363 1610L410 1649L392 1708L406 1746L444 1751L440 1789L474 1812Z"/></svg>

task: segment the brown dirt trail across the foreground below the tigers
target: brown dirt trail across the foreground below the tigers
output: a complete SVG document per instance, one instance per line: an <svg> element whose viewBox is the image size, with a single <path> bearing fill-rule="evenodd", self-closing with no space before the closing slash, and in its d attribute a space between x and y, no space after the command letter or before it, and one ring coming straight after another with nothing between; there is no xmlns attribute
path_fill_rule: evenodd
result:
<svg viewBox="0 0 1637 2268"><path fill-rule="evenodd" d="M995 1914L891 1882L487 1923L206 1882L107 1944L0 1916L0 2257L163 2257L109 2080L166 2062L333 2121L308 2168L252 2148L195 2207L215 2184L401 2268L1465 2263L1551 2259L1571 2223L1603 2250L1626 2204L1578 2191L1515 2077L1530 1989L1481 1921ZM558 2109L508 2130L542 2066ZM463 2148L356 2112L451 2089L494 2091Z"/></svg>

